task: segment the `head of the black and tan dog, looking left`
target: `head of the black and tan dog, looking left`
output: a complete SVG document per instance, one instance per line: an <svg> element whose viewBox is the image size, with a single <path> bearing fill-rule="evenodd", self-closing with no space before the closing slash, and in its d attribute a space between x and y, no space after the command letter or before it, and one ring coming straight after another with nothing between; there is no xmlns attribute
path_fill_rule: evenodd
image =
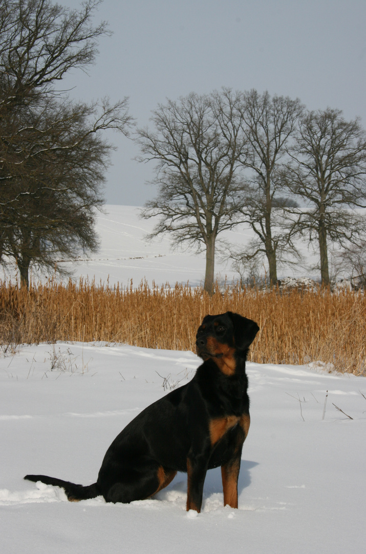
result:
<svg viewBox="0 0 366 554"><path fill-rule="evenodd" d="M197 355L204 361L212 358L224 373L232 375L236 359L245 359L258 331L254 321L230 311L206 315L196 335Z"/></svg>

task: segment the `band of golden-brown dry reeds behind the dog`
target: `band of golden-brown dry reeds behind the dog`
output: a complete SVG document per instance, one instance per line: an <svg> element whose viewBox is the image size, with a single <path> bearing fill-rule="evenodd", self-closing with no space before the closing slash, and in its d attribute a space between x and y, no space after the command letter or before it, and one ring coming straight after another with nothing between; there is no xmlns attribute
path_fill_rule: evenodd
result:
<svg viewBox="0 0 366 554"><path fill-rule="evenodd" d="M202 317L227 310L257 321L254 362L321 360L337 371L366 375L366 297L348 290L280 294L227 287L210 297L187 285L111 288L49 281L27 291L0 283L0 340L3 350L62 340L194 351Z"/></svg>

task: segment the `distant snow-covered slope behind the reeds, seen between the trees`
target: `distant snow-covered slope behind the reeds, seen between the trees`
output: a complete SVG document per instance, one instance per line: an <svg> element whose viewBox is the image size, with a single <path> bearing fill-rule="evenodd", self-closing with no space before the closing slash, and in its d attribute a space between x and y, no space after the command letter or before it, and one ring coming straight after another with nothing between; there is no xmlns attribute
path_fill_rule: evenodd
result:
<svg viewBox="0 0 366 554"><path fill-rule="evenodd" d="M171 249L169 235L155 239L147 243L145 237L153 230L156 219L148 220L139 217L140 209L133 206L105 206L105 213L97 218L96 230L101 237L101 248L97 254L71 265L59 261L59 265L72 271L74 280L79 281L80 276L95 277L96 283L102 281L114 285L120 283L126 286L130 279L134 285L141 280L147 279L151 285L154 280L158 285L164 285L167 281L170 285L189 283L192 286L203 284L205 280L205 253L196 255L192 250ZM219 235L227 243L242 247L243 250L249 240L253 238L253 231L247 225L238 225L232 231ZM312 278L318 277L318 272L311 272L305 268L307 265L315 265L317 257L307 249L306 243L299 242L299 249L304 257L304 263L297 266L279 266L279 276L304 275ZM222 256L221 256L222 254ZM215 274L218 279L225 279L227 276L238 279L239 274L232 269L232 262L227 259L228 250L217 253L215 260ZM9 268L14 265L9 266ZM264 268L261 270L264 274ZM15 273L7 271L6 276L14 278ZM0 268L0 278L3 277L3 270ZM38 281L39 276L34 275Z"/></svg>

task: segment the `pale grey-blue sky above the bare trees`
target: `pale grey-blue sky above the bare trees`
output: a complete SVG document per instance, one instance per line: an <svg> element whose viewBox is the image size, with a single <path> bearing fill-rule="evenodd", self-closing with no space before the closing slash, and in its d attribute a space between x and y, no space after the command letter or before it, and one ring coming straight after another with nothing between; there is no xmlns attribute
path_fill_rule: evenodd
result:
<svg viewBox="0 0 366 554"><path fill-rule="evenodd" d="M89 75L74 71L65 84L85 100L129 96L139 126L166 98L227 86L338 108L366 128L365 0L104 0L100 19L114 34L100 40ZM132 141L114 133L109 140L118 151L106 201L142 206L156 193L145 184L153 164L132 159Z"/></svg>

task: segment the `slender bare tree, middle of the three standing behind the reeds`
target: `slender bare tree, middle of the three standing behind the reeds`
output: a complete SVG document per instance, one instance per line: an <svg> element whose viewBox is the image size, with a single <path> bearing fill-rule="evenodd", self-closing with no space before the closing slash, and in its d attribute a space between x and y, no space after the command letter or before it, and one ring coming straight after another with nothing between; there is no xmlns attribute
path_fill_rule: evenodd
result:
<svg viewBox="0 0 366 554"><path fill-rule="evenodd" d="M252 172L243 188L242 216L255 233L255 239L243 260L265 256L269 281L277 282L277 263L286 255L297 256L293 242L296 222L283 209L290 200L278 196L283 192L279 178L286 147L296 129L303 106L299 99L271 96L266 91L251 90L243 95L242 129L248 143L243 166ZM238 259L239 253L236 253Z"/></svg>

